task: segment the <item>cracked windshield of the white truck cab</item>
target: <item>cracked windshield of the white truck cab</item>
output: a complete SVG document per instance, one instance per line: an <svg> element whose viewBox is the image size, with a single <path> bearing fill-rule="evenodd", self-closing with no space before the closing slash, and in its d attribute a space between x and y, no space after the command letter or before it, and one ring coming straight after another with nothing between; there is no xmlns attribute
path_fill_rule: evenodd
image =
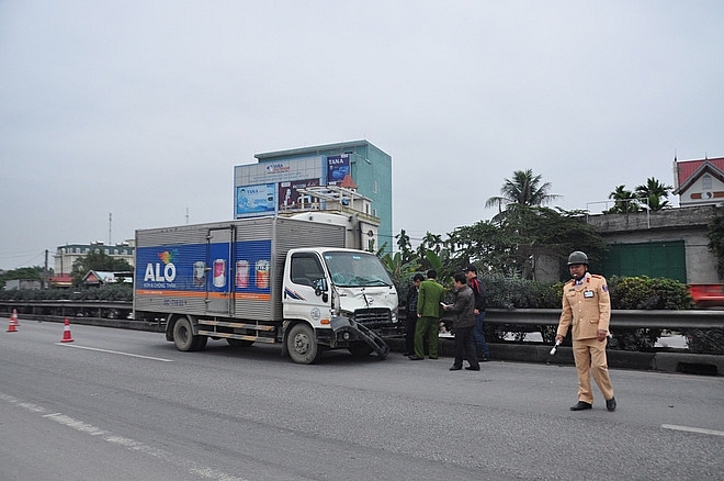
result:
<svg viewBox="0 0 724 481"><path fill-rule="evenodd" d="M361 288L393 284L384 266L373 254L328 251L325 253L325 262L332 282L339 287Z"/></svg>

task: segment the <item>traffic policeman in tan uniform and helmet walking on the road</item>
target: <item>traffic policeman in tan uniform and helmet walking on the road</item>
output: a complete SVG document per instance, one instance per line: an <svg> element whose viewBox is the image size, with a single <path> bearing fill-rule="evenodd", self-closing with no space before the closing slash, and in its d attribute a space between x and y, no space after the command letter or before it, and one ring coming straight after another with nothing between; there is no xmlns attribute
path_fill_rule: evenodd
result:
<svg viewBox="0 0 724 481"><path fill-rule="evenodd" d="M573 325L573 351L578 371L578 403L570 411L590 410L593 405L591 373L603 393L606 407L615 410L615 398L606 359L606 344L611 320L611 298L606 278L588 272L588 256L576 250L568 256L573 279L563 288L563 312L555 340L563 342Z"/></svg>

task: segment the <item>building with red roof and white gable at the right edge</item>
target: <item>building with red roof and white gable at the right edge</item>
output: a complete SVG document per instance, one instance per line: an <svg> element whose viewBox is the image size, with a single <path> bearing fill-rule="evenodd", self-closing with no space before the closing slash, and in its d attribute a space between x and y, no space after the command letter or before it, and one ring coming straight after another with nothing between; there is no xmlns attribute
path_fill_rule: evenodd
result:
<svg viewBox="0 0 724 481"><path fill-rule="evenodd" d="M679 205L724 203L724 157L700 160L674 159L674 193Z"/></svg>

